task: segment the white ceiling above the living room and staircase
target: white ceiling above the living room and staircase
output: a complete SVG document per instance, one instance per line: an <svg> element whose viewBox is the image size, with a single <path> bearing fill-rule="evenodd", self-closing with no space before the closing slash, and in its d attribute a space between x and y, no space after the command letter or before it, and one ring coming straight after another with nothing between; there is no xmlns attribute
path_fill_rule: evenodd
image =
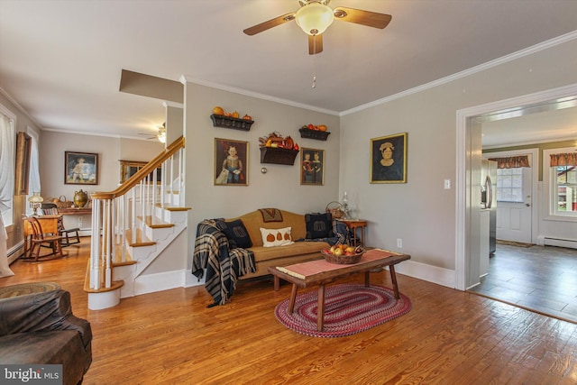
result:
<svg viewBox="0 0 577 385"><path fill-rule="evenodd" d="M122 69L338 115L577 29L574 0L330 4L339 5L392 21L335 21L324 51L309 56L294 22L243 33L297 0L0 0L0 87L44 129L138 137L162 124L164 107L119 92Z"/></svg>

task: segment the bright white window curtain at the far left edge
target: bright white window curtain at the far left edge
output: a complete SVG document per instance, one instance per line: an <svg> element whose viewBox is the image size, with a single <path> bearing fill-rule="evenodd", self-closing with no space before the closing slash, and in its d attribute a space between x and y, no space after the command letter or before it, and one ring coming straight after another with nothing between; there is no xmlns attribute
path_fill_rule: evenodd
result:
<svg viewBox="0 0 577 385"><path fill-rule="evenodd" d="M14 120L0 114L0 277L14 275L8 264L5 214L12 215L14 197ZM9 222L12 223L12 220Z"/></svg>

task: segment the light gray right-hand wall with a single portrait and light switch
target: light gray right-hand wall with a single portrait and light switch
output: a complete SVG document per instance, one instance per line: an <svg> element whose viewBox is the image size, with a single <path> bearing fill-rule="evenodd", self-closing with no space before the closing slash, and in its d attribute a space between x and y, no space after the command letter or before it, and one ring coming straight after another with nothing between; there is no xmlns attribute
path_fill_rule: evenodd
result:
<svg viewBox="0 0 577 385"><path fill-rule="evenodd" d="M575 83L575 68L577 41L568 41L344 115L340 191L369 221L368 242L398 250L402 238L412 261L454 270L455 189L443 181L455 180L456 111ZM408 183L371 185L370 139L395 133L408 133Z"/></svg>

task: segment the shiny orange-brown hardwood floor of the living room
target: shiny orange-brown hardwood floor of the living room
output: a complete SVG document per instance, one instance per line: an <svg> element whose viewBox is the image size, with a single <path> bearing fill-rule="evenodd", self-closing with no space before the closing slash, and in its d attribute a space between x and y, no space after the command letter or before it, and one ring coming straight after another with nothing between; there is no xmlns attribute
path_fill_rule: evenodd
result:
<svg viewBox="0 0 577 385"><path fill-rule="evenodd" d="M285 328L274 308L289 285L239 284L231 303L201 287L87 309L89 238L65 259L15 261L0 286L52 280L93 328L92 384L575 384L577 325L398 274L411 311L357 335L314 338ZM362 275L350 282L362 282ZM390 287L386 271L371 282Z"/></svg>

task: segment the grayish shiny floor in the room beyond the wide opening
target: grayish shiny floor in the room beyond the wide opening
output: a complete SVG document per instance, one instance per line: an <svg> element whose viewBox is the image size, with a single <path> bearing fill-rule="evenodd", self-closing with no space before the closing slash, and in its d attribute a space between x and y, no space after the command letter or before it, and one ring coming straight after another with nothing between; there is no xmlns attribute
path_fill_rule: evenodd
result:
<svg viewBox="0 0 577 385"><path fill-rule="evenodd" d="M471 291L577 324L577 250L498 244Z"/></svg>

